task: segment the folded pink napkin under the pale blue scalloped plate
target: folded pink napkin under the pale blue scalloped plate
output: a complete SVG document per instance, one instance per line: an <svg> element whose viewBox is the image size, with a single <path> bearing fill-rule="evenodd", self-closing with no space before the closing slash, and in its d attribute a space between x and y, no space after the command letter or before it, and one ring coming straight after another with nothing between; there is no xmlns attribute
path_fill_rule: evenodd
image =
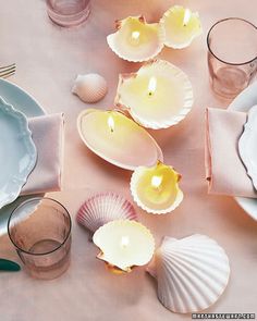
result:
<svg viewBox="0 0 257 321"><path fill-rule="evenodd" d="M28 126L37 147L37 163L23 186L22 195L61 189L63 114L29 119Z"/></svg>

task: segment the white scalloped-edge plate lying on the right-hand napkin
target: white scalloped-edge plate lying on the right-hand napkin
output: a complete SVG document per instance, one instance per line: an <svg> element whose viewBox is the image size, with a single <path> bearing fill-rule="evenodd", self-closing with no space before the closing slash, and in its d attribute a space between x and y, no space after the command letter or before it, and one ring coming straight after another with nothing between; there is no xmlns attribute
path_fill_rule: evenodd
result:
<svg viewBox="0 0 257 321"><path fill-rule="evenodd" d="M244 125L244 132L238 140L238 150L241 159L247 170L257 189L257 106L252 107L248 112L247 122Z"/></svg>

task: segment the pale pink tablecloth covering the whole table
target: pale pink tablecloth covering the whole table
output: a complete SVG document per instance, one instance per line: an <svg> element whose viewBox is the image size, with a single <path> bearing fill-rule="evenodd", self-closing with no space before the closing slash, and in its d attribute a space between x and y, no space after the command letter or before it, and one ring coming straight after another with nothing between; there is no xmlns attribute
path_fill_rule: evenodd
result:
<svg viewBox="0 0 257 321"><path fill-rule="evenodd" d="M241 16L257 23L256 0L178 1L200 14L204 35L185 50L166 48L159 58L186 72L193 83L193 111L178 126L152 132L161 146L164 161L182 173L183 203L169 215L149 215L138 209L140 221L155 234L184 237L200 233L224 247L231 261L230 284L208 312L257 312L257 224L233 198L207 195L204 170L205 108L224 108L210 90L206 64L206 34L217 21ZM76 131L77 114L85 108L111 108L118 75L136 71L139 64L119 59L107 46L114 20L144 13L157 21L174 4L170 0L95 0L88 21L75 28L53 25L47 17L45 1L0 0L0 62L16 62L11 82L30 92L49 113L65 112L64 192L54 194L72 217L90 190L117 190L131 199L131 172L114 168L94 156ZM244 50L242 48L242 50ZM71 95L76 74L98 72L108 82L109 92L96 106L87 106ZM50 141L49 141L50 144ZM86 232L73 224L72 264L60 279L42 282L22 271L0 274L2 321L66 320L182 320L157 299L156 284L136 269L127 275L109 273L95 259L96 247ZM7 236L0 238L0 257L19 260Z"/></svg>

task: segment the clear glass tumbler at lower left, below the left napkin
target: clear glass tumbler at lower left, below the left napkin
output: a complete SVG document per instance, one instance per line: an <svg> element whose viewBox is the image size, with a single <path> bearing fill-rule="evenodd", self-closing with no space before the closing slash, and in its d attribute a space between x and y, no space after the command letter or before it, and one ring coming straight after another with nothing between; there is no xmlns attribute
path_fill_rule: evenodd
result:
<svg viewBox="0 0 257 321"><path fill-rule="evenodd" d="M51 280L66 271L71 225L68 210L50 198L30 198L12 212L9 237L32 276Z"/></svg>

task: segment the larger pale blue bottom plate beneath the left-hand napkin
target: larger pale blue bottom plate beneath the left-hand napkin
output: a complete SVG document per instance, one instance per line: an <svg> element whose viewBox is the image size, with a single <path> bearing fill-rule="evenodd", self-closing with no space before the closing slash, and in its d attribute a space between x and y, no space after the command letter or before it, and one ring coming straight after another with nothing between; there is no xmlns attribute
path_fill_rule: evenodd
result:
<svg viewBox="0 0 257 321"><path fill-rule="evenodd" d="M16 110L26 116L39 116L46 114L39 103L20 87L0 78L0 96L11 103ZM32 196L19 197L14 202L0 210L0 235L7 233L7 221L15 207Z"/></svg>

